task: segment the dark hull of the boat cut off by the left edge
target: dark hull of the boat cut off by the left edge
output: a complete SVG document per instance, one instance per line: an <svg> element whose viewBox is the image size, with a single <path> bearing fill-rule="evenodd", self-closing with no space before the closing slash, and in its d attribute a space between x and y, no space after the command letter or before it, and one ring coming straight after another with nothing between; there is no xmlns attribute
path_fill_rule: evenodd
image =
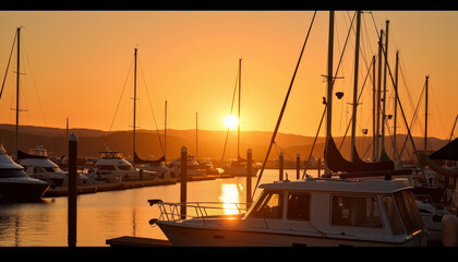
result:
<svg viewBox="0 0 458 262"><path fill-rule="evenodd" d="M0 202L38 201L49 187L49 183L33 178L1 179Z"/></svg>

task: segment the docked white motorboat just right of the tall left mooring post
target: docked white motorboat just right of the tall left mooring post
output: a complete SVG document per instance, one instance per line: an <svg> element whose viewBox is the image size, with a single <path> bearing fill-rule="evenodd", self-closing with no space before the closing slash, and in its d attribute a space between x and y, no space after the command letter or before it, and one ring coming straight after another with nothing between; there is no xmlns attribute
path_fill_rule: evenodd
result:
<svg viewBox="0 0 458 262"><path fill-rule="evenodd" d="M122 180L153 180L157 171L134 168L118 151L100 151L95 170L88 172L98 182L120 182Z"/></svg>

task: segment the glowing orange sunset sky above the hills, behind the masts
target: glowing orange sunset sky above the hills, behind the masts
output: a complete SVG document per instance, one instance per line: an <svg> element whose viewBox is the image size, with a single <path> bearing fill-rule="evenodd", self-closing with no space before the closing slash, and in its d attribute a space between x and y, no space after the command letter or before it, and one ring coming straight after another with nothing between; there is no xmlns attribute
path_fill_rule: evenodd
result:
<svg viewBox="0 0 458 262"><path fill-rule="evenodd" d="M198 112L200 129L224 130L222 118L230 110L241 57L241 129L273 131L312 15L312 11L0 11L0 75L7 68L15 29L22 25L22 53L26 52L27 60L22 60L26 74L21 76L21 109L27 111L21 112L21 124L65 128L70 118L71 128L109 130L137 47L140 128L156 128L153 108L157 127L164 129L167 99L168 128L194 129ZM336 12L335 67L352 15L352 11ZM400 51L403 75L399 88L408 121L429 74L429 134L448 139L458 114L458 12L373 11L372 15L363 14L360 86L365 64L377 52L375 26L385 28L388 19L388 59L394 70L395 51ZM280 132L315 135L326 95L321 75L327 70L327 38L328 12L321 11ZM354 35L339 73L345 79L337 80L335 86L345 96L334 99L334 135L343 134L350 118L353 58ZM0 100L1 123L15 122L11 110L15 107L15 61L11 67ZM131 75L132 71L112 130L132 126ZM389 79L387 83L393 97ZM372 128L370 88L365 86L358 109L358 135L361 129ZM393 114L393 98L387 99L387 114ZM424 109L419 117L424 118ZM400 116L398 119L398 131L405 132ZM423 135L422 119L412 130L417 135Z"/></svg>

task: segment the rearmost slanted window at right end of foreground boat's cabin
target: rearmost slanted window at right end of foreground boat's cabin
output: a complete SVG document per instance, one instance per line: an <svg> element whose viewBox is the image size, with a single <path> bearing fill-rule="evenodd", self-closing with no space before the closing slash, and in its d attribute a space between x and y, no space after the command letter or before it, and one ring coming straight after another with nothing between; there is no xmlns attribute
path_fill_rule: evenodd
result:
<svg viewBox="0 0 458 262"><path fill-rule="evenodd" d="M402 190L394 193L399 213L408 234L414 233L423 227L419 207L413 198L412 190Z"/></svg>

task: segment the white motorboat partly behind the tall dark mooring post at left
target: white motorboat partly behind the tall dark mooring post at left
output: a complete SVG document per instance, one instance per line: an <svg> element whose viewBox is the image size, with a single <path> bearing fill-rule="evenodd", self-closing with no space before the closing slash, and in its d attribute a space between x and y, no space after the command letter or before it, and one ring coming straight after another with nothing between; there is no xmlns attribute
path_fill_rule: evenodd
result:
<svg viewBox="0 0 458 262"><path fill-rule="evenodd" d="M28 153L19 151L17 160L28 176L48 182L51 188L69 186L69 174L49 159L48 152L43 146L31 148ZM79 174L79 176L80 184L92 183L85 175Z"/></svg>

